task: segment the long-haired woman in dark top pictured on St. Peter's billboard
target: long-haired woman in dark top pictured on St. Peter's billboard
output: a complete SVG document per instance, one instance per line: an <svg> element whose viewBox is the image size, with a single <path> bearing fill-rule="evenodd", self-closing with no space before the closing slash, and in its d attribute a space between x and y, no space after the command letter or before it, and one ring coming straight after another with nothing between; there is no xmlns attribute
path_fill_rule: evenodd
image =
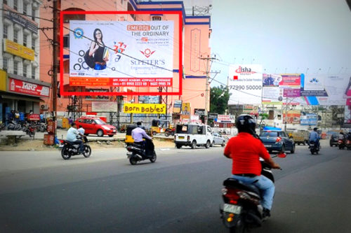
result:
<svg viewBox="0 0 351 233"><path fill-rule="evenodd" d="M89 56L93 57L95 65L93 69L102 70L106 69L106 62L109 60L108 48L105 47L105 43L102 41L102 32L100 29L94 30L94 41L91 42L89 49Z"/></svg>

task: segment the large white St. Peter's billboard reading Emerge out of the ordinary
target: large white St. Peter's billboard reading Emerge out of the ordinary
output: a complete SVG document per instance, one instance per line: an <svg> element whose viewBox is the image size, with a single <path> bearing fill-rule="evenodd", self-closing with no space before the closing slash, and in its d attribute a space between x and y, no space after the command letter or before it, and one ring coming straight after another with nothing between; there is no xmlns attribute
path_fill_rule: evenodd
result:
<svg viewBox="0 0 351 233"><path fill-rule="evenodd" d="M69 22L69 84L171 86L173 21Z"/></svg>

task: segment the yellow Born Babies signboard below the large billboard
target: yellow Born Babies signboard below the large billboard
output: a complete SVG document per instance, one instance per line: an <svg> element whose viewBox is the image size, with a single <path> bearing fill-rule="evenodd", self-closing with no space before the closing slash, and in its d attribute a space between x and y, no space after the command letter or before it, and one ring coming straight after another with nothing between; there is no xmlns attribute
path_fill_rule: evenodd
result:
<svg viewBox="0 0 351 233"><path fill-rule="evenodd" d="M166 104L124 104L124 113L166 114Z"/></svg>

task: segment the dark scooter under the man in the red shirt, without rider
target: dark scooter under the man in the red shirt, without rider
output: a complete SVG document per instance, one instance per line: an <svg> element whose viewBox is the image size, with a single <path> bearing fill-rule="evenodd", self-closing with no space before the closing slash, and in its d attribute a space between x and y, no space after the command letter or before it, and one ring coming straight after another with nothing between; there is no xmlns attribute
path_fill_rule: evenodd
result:
<svg viewBox="0 0 351 233"><path fill-rule="evenodd" d="M279 153L277 156L286 157L286 154ZM272 167L264 161L260 162L261 175L274 183ZM264 220L260 190L255 185L244 184L234 178L227 178L223 181L223 185L224 204L220 206L220 218L230 232L240 233L253 227L260 227Z"/></svg>

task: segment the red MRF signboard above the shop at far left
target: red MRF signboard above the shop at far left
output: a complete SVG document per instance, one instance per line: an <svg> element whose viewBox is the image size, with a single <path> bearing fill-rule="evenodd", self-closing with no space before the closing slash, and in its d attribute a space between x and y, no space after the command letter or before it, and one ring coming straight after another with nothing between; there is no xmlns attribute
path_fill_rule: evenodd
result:
<svg viewBox="0 0 351 233"><path fill-rule="evenodd" d="M29 94L36 97L48 97L49 87L36 83L29 83L15 78L8 78L8 91L20 94Z"/></svg>

